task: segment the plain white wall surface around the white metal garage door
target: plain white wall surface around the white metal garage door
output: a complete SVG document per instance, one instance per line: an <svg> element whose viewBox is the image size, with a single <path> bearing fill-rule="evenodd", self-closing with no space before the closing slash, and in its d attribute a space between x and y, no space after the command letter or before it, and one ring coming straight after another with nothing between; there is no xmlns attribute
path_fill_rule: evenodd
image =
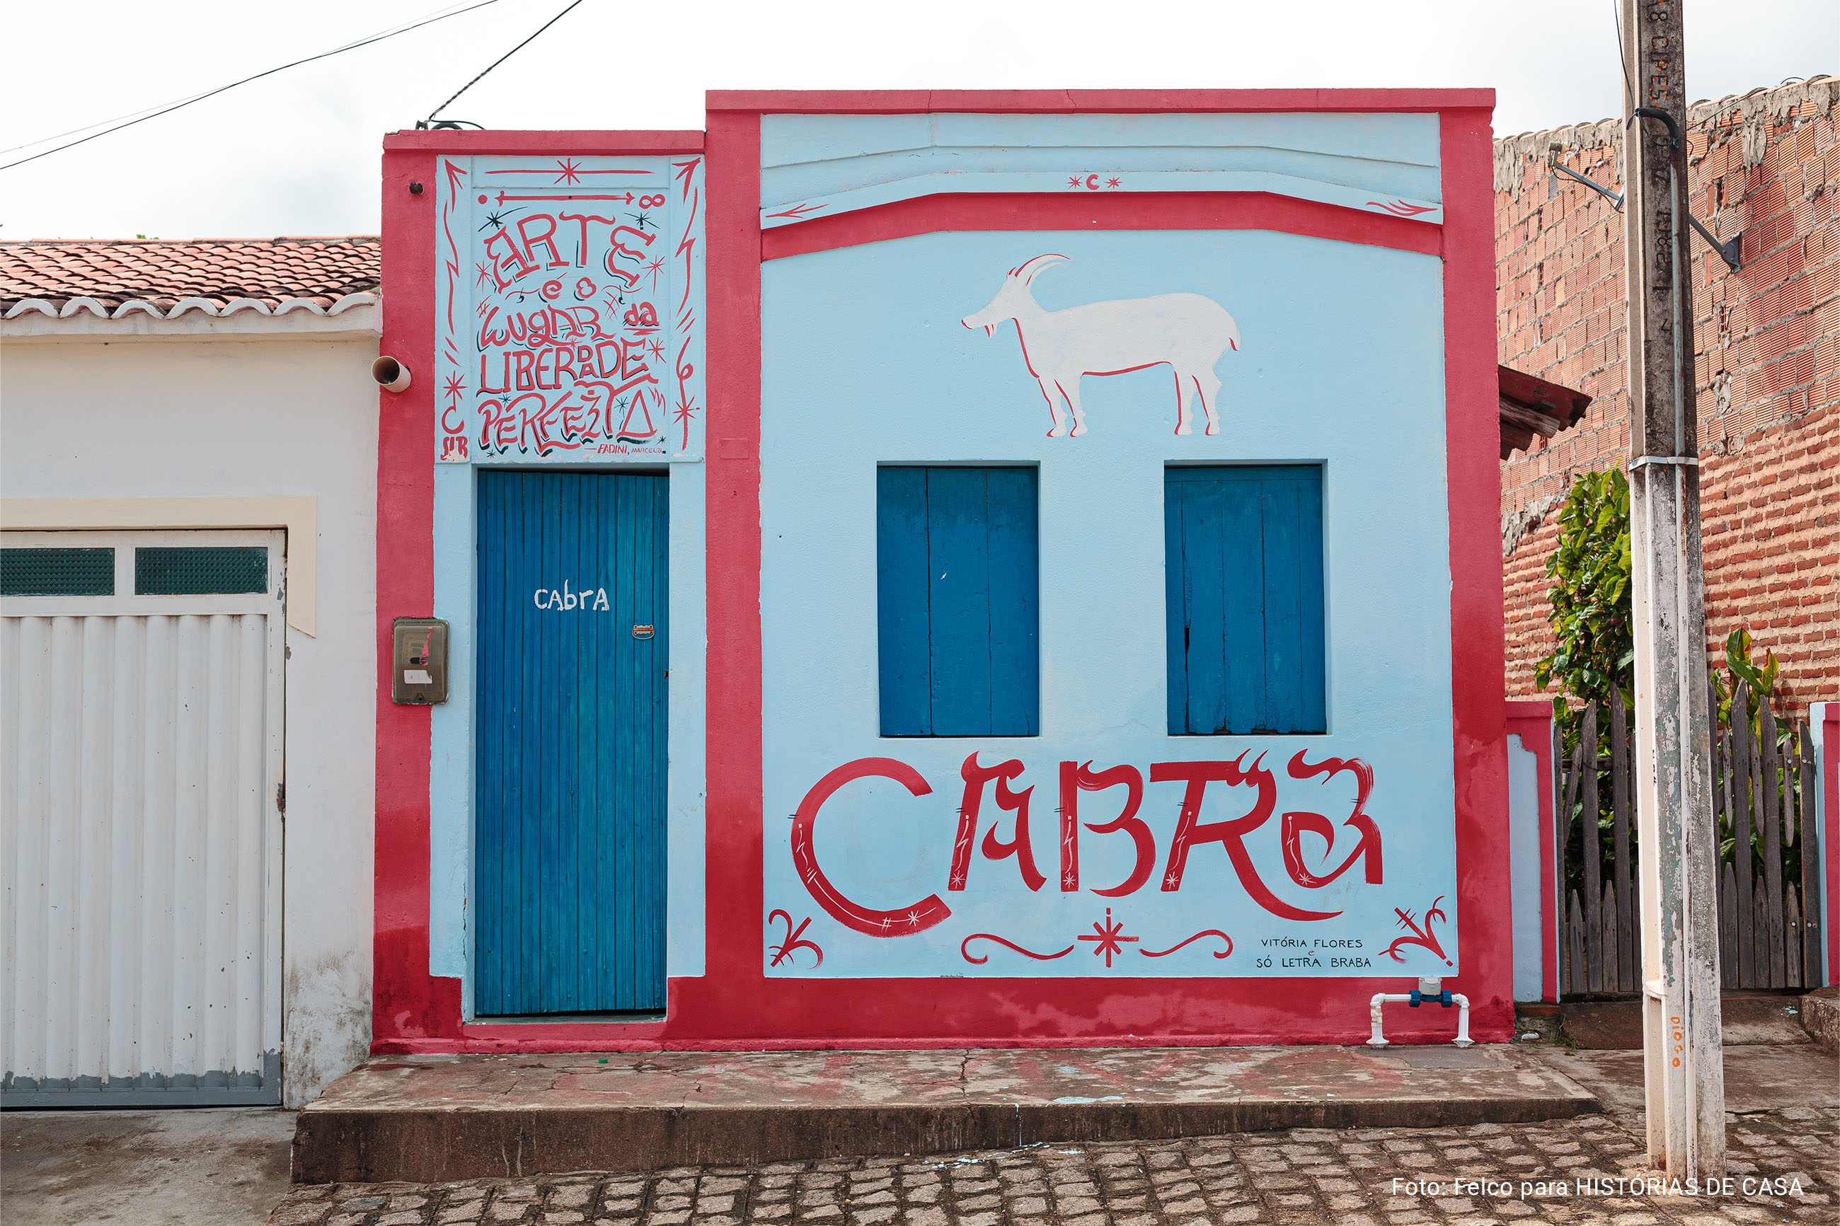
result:
<svg viewBox="0 0 1840 1226"><path fill-rule="evenodd" d="M18 338L0 496L318 498L316 634L287 630L283 1101L370 1048L375 338Z"/></svg>

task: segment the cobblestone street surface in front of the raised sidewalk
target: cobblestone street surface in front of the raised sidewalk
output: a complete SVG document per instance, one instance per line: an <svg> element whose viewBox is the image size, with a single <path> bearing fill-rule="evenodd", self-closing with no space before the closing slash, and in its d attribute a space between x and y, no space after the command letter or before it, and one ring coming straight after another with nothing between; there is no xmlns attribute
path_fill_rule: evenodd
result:
<svg viewBox="0 0 1840 1226"><path fill-rule="evenodd" d="M1639 1116L1630 1119L1639 1127ZM1834 1171L1840 1110L1790 1107L1730 1116L1728 1136L1733 1187L1715 1197L1619 1189L1617 1180L1647 1175L1641 1136L1623 1118L1582 1116L1463 1129L1295 1129L1154 1143L1064 1143L918 1160L296 1187L269 1226L1840 1220ZM1478 1187L1479 1180L1490 1186ZM1755 1191L1759 1180L1772 1182L1772 1195Z"/></svg>

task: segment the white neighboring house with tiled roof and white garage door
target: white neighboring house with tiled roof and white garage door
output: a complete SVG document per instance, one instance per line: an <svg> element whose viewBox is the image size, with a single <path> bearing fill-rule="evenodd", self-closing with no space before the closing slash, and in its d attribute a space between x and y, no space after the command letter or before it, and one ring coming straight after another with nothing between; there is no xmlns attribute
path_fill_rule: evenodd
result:
<svg viewBox="0 0 1840 1226"><path fill-rule="evenodd" d="M368 1053L377 278L0 243L6 1107L293 1107Z"/></svg>

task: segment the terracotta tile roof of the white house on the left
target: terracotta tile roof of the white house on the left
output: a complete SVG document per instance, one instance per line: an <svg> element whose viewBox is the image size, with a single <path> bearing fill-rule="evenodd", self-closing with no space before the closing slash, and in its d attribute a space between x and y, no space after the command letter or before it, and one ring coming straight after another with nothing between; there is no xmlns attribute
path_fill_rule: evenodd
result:
<svg viewBox="0 0 1840 1226"><path fill-rule="evenodd" d="M210 314L239 298L270 311L305 300L324 312L348 294L375 294L379 267L374 235L0 243L0 314L33 298L59 311L92 298L109 314L129 301L173 314L188 298L208 301Z"/></svg>

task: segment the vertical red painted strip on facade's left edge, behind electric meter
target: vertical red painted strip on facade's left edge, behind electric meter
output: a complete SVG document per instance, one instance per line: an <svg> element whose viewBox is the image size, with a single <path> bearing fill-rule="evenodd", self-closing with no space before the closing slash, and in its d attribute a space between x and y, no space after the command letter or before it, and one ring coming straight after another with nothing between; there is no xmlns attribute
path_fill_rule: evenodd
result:
<svg viewBox="0 0 1840 1226"><path fill-rule="evenodd" d="M434 369L432 153L383 158L381 353ZM372 1037L460 1035L460 980L429 976L429 711L390 702L390 621L434 610L434 392L377 393L377 846Z"/></svg>

